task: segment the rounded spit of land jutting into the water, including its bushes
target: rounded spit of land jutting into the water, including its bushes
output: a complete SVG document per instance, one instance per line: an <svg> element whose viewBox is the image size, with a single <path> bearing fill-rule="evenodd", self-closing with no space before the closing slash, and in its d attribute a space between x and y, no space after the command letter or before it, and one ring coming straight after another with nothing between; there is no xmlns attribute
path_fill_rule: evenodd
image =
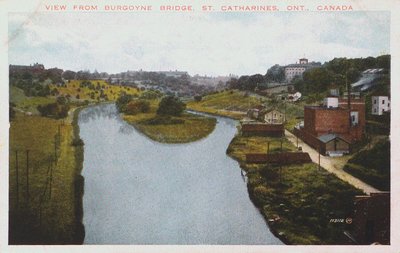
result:
<svg viewBox="0 0 400 253"><path fill-rule="evenodd" d="M121 96L116 102L123 119L152 140L187 143L202 139L215 128L215 118L185 113L185 104L171 96L135 99Z"/></svg>

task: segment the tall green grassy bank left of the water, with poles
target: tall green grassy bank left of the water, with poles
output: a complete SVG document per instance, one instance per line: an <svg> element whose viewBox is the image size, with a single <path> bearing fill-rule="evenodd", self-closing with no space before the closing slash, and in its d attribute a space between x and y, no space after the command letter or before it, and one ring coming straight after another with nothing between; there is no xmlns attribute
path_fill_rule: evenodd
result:
<svg viewBox="0 0 400 253"><path fill-rule="evenodd" d="M83 149L74 142L77 134L76 121L17 113L11 122L10 244L83 242Z"/></svg>

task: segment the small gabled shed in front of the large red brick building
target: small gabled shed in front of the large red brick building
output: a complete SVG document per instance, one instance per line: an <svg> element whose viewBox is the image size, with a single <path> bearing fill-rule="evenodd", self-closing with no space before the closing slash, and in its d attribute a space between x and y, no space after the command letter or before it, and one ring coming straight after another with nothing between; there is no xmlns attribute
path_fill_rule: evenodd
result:
<svg viewBox="0 0 400 253"><path fill-rule="evenodd" d="M318 137L321 154L329 156L342 156L350 152L350 142L337 134L325 134Z"/></svg>

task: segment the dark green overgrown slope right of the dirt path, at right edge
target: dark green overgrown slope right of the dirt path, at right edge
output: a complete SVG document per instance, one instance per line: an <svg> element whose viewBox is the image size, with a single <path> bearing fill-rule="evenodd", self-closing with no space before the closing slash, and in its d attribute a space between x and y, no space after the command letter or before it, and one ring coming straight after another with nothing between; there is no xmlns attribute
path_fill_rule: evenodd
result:
<svg viewBox="0 0 400 253"><path fill-rule="evenodd" d="M373 187L390 190L390 141L381 140L371 149L356 153L344 170Z"/></svg>

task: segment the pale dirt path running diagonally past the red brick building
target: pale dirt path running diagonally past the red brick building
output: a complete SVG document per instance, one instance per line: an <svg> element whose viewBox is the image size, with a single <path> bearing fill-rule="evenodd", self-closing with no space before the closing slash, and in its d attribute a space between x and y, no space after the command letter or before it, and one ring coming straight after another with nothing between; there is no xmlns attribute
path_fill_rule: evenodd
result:
<svg viewBox="0 0 400 253"><path fill-rule="evenodd" d="M286 138L296 145L296 136L290 133L289 131L285 130ZM304 152L310 154L311 159L314 163L318 164L318 152L311 148L309 145L305 144L302 140L298 139L299 146L302 147ZM327 157L321 155L321 166L331 172L334 173L338 178L346 181L347 183L353 185L354 187L364 191L366 194L370 194L371 192L379 192L379 190L375 189L374 187L364 183L358 178L353 177L349 173L343 170L344 165L347 163L347 160L350 157Z"/></svg>

